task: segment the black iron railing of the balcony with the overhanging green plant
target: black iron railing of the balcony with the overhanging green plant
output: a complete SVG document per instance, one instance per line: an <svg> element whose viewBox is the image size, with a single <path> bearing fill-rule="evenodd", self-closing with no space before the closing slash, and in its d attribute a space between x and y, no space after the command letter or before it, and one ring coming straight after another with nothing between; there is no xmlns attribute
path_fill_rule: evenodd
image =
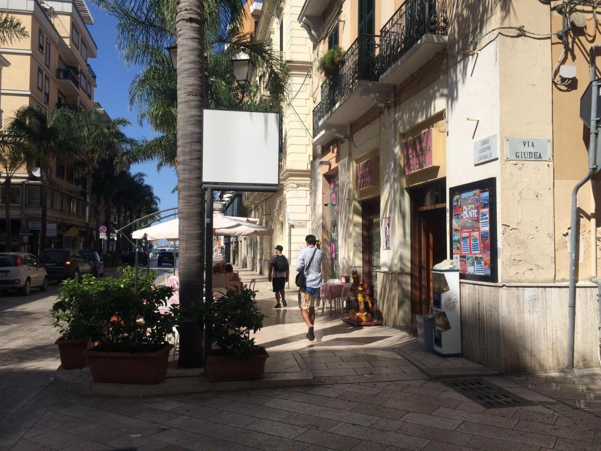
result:
<svg viewBox="0 0 601 451"><path fill-rule="evenodd" d="M319 134L320 121L349 93L359 80L376 81L379 76L380 37L361 34L346 51L344 63L322 84L322 99L313 109L313 136Z"/></svg>

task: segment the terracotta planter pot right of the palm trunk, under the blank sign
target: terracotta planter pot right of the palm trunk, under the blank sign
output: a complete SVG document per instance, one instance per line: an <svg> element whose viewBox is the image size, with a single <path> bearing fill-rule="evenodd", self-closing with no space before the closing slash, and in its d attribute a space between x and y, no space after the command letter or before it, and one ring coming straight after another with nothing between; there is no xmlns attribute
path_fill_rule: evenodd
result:
<svg viewBox="0 0 601 451"><path fill-rule="evenodd" d="M210 382L251 381L263 377L267 357L269 354L263 347L250 358L227 357L213 351L207 355L205 370Z"/></svg>

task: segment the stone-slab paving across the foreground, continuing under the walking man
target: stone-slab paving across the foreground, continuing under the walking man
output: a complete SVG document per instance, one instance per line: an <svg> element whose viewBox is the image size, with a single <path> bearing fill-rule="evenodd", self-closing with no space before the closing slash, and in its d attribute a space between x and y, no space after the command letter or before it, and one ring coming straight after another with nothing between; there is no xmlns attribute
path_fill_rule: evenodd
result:
<svg viewBox="0 0 601 451"><path fill-rule="evenodd" d="M601 449L596 404L580 402L601 399L598 372L487 376L532 405L484 408L413 365L410 355L441 368L424 363L403 331L347 328L326 309L316 342L308 342L296 292L290 290L288 308L275 310L266 281L255 278L261 310L270 316L257 341L277 356L269 366L294 371L287 353L297 353L316 385L120 398L44 385L4 411L0 450ZM449 367L457 365L471 366L460 360ZM2 387L10 396L11 384Z"/></svg>

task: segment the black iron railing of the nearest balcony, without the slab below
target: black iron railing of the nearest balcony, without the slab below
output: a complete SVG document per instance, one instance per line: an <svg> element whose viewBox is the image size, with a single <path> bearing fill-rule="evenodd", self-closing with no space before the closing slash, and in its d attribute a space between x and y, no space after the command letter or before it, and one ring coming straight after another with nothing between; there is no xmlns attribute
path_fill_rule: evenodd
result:
<svg viewBox="0 0 601 451"><path fill-rule="evenodd" d="M382 72L424 34L447 34L447 0L406 0L380 30Z"/></svg>

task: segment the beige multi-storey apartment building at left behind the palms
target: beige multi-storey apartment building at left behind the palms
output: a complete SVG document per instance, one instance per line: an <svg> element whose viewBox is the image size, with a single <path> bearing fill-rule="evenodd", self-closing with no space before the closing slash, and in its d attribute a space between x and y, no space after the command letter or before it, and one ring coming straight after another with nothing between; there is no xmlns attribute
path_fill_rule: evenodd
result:
<svg viewBox="0 0 601 451"><path fill-rule="evenodd" d="M0 55L10 64L2 70L0 105L2 124L22 106L94 108L96 74L90 65L97 45L89 25L93 18L85 0L0 1L0 11L20 20L28 38L6 43ZM46 247L80 247L91 243L84 236L85 183L75 158L51 161L47 206L47 242L39 242L41 218L40 179L23 168L11 191L12 247L37 253ZM1 179L1 177L0 177ZM0 248L8 226L0 209ZM93 206L92 218L96 218ZM92 227L96 229L93 219ZM90 244L91 245L91 244Z"/></svg>

